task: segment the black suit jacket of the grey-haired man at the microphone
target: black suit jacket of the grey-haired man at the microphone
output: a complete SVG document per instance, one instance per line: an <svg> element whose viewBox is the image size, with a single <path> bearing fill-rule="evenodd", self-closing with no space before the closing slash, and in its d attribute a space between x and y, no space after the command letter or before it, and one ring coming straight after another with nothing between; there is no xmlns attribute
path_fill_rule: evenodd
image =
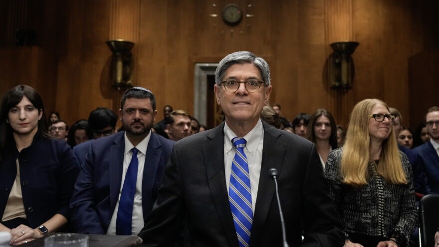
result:
<svg viewBox="0 0 439 247"><path fill-rule="evenodd" d="M173 246L186 219L186 246L238 247L224 173L224 123L176 143L154 209L139 236L144 244ZM282 235L270 168L279 172L279 195L287 242L343 246L314 144L263 123L264 144L250 246L281 246ZM306 243L306 244L305 244Z"/></svg>

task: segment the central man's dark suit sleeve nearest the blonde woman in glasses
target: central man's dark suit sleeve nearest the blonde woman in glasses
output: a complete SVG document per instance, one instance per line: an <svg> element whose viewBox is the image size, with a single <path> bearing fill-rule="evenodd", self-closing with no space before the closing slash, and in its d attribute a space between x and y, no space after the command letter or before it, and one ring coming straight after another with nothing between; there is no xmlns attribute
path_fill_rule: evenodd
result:
<svg viewBox="0 0 439 247"><path fill-rule="evenodd" d="M345 234L340 218L329 195L317 151L312 145L303 184L302 247L341 247Z"/></svg>

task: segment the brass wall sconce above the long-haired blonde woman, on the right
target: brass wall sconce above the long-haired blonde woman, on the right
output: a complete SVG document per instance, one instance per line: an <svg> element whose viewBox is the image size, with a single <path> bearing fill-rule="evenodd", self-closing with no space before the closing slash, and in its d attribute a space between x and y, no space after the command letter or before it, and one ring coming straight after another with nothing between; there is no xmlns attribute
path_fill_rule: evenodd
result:
<svg viewBox="0 0 439 247"><path fill-rule="evenodd" d="M332 89L347 91L352 88L354 80L354 60L351 55L360 43L355 41L335 42L330 44L334 50L330 55L329 81Z"/></svg>

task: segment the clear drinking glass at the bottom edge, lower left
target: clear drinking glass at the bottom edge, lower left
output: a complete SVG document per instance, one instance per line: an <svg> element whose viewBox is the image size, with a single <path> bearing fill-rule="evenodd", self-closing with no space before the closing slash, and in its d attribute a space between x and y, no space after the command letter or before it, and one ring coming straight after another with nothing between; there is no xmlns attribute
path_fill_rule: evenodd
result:
<svg viewBox="0 0 439 247"><path fill-rule="evenodd" d="M88 236L70 233L52 234L44 239L44 247L88 247Z"/></svg>

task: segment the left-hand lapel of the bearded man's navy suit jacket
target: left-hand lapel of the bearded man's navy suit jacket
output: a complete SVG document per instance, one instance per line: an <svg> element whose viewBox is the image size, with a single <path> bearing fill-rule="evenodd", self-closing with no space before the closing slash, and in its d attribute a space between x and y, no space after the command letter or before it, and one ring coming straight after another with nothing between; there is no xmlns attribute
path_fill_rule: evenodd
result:
<svg viewBox="0 0 439 247"><path fill-rule="evenodd" d="M113 140L113 146L110 147L108 152L110 159L110 204L113 211L119 198L125 152L124 132L115 135L117 136Z"/></svg>

